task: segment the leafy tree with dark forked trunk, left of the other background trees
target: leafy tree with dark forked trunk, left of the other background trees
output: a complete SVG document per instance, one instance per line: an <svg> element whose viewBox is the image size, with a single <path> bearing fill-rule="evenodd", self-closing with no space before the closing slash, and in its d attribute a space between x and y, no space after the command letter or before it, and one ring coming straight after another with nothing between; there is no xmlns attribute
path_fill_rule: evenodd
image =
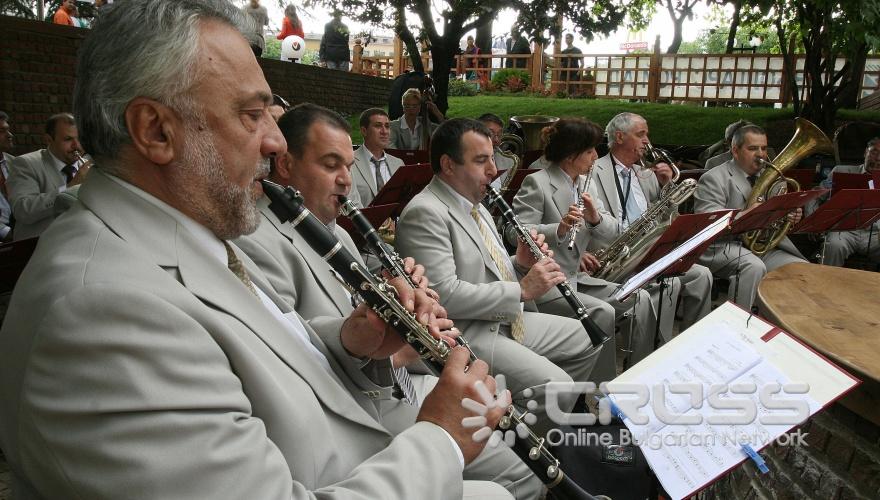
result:
<svg viewBox="0 0 880 500"><path fill-rule="evenodd" d="M641 6L650 0L634 2ZM596 33L610 33L623 23L628 12L638 12L633 2L624 0L310 0L349 12L359 22L391 28L409 51L415 69L421 68L417 40L429 45L432 77L437 91L437 106L448 108L449 71L454 66L459 43L468 31L485 26L498 11L515 9L519 20L514 29L524 30L530 38L544 41L544 33L554 30L557 13L573 21L580 33L592 39ZM407 14L417 22L410 25ZM558 29L557 29L558 31Z"/></svg>

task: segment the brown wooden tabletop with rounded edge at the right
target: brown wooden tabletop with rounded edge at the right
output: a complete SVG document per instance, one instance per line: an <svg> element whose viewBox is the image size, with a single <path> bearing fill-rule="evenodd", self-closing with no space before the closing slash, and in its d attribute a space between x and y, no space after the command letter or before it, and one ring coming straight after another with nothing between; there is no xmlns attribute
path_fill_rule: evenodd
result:
<svg viewBox="0 0 880 500"><path fill-rule="evenodd" d="M789 264L758 287L761 315L862 380L841 403L880 425L880 273Z"/></svg>

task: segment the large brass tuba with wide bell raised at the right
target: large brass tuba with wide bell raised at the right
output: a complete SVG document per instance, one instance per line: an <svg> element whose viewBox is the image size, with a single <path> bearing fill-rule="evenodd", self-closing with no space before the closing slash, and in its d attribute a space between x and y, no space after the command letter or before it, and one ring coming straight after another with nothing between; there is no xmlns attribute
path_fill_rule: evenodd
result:
<svg viewBox="0 0 880 500"><path fill-rule="evenodd" d="M819 127L804 118L798 118L795 124L794 136L779 152L773 163L763 159L758 160L764 169L755 180L755 186L749 193L746 207L743 210L748 210L756 203L767 201L773 196L785 194L789 192L789 187L792 191L800 190L797 181L786 177L785 171L797 166L801 160L811 154L834 153L834 145ZM788 234L789 229L791 229L791 222L787 217L783 217L766 228L744 234L743 244L755 255L764 255L776 248L776 245Z"/></svg>

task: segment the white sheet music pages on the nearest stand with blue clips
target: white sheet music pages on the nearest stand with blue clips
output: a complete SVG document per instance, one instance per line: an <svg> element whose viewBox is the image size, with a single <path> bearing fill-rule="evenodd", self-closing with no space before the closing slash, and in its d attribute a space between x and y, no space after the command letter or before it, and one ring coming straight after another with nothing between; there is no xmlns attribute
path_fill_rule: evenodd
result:
<svg viewBox="0 0 880 500"><path fill-rule="evenodd" d="M768 362L755 349L753 341L748 333L719 321L711 332L692 336L687 344L680 344L675 363L655 366L626 380L651 388L648 404L638 409L647 416L647 423L639 425L629 414L624 423L672 499L690 496L742 462L746 458L743 444L760 450L805 416L821 409L822 405L809 394L785 392L773 394L772 401L794 409L765 406L760 397L762 388L774 382L791 388L790 384L798 381ZM701 397L694 401L681 387L676 392L670 390L672 384L684 382L702 387ZM727 387L710 392L714 384ZM612 392L608 397L618 407L634 398L630 393L614 393L613 384L609 389ZM736 393L732 392L734 389ZM664 405L658 399L661 394ZM724 408L727 405L737 408ZM665 408L664 413L668 414L657 415L655 408ZM753 409L754 416L744 408ZM719 422L734 417L742 417L743 422ZM773 422L774 417L783 417L783 423Z"/></svg>

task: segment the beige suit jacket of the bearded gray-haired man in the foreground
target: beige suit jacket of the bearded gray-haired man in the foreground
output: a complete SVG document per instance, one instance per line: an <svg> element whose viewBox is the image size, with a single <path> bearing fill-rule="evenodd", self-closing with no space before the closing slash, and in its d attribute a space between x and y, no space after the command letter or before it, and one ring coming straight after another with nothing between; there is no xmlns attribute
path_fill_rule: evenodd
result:
<svg viewBox="0 0 880 500"><path fill-rule="evenodd" d="M461 498L442 429L392 438L173 217L100 171L79 195L0 334L0 445L18 498ZM306 331L345 373L338 335Z"/></svg>

